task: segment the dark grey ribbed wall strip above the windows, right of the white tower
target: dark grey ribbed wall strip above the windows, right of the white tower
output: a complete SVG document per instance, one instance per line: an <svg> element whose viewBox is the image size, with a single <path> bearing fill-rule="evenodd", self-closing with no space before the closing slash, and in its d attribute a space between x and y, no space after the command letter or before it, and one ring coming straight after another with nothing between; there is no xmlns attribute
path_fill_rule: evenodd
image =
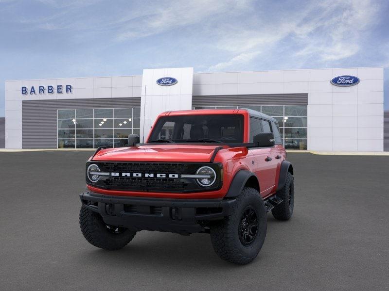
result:
<svg viewBox="0 0 389 291"><path fill-rule="evenodd" d="M305 105L308 94L194 96L192 106Z"/></svg>

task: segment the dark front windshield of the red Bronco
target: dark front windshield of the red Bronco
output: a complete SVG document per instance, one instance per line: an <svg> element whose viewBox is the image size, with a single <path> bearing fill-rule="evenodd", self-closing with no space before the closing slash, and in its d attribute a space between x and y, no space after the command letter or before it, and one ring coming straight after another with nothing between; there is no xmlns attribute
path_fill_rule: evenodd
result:
<svg viewBox="0 0 389 291"><path fill-rule="evenodd" d="M149 143L243 143L243 115L163 116L153 128Z"/></svg>

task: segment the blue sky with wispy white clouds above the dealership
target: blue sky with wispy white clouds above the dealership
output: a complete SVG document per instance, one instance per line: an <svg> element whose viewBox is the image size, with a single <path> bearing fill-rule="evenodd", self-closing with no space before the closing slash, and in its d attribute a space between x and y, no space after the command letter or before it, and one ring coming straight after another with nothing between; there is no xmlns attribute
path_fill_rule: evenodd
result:
<svg viewBox="0 0 389 291"><path fill-rule="evenodd" d="M0 0L4 81L195 72L384 66L389 1Z"/></svg>

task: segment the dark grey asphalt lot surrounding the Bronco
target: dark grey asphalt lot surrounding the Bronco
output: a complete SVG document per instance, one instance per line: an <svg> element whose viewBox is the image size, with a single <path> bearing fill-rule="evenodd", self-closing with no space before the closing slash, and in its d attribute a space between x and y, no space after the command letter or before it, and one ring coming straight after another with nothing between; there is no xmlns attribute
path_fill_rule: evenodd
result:
<svg viewBox="0 0 389 291"><path fill-rule="evenodd" d="M0 152L0 290L388 290L389 157L289 153L290 221L268 214L257 259L219 259L209 235L142 231L119 251L82 236L92 152Z"/></svg>

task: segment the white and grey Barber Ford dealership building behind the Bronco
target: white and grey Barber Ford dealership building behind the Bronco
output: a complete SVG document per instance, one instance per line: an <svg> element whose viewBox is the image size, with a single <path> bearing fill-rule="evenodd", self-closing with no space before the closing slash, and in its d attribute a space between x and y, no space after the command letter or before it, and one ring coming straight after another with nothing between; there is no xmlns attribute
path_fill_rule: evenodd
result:
<svg viewBox="0 0 389 291"><path fill-rule="evenodd" d="M119 147L130 133L146 139L164 111L251 108L278 120L288 149L381 152L389 150L383 79L382 67L227 73L189 67L6 81L0 147Z"/></svg>

